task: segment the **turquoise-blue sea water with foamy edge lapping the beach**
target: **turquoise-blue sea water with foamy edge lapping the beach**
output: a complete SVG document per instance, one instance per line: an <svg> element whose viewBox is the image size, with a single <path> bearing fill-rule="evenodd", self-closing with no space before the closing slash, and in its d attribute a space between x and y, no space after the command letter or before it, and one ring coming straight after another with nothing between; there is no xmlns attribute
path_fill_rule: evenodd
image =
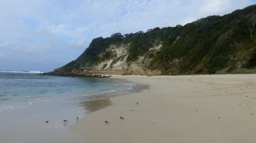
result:
<svg viewBox="0 0 256 143"><path fill-rule="evenodd" d="M135 84L116 79L51 77L38 72L0 72L0 112L45 102L97 100L99 94L124 92Z"/></svg>

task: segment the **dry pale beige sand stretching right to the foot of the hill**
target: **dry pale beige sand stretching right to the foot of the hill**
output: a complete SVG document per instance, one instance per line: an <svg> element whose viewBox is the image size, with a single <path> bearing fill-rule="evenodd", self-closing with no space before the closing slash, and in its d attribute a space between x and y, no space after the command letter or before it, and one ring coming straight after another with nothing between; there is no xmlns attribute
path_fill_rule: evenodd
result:
<svg viewBox="0 0 256 143"><path fill-rule="evenodd" d="M256 75L113 78L150 87L72 126L89 143L256 142Z"/></svg>

